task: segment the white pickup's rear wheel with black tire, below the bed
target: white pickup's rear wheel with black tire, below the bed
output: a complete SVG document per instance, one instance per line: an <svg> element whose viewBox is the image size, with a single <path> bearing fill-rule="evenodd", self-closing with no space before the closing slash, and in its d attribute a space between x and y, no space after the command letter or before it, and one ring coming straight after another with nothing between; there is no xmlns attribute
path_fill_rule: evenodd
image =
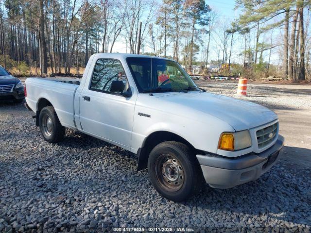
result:
<svg viewBox="0 0 311 233"><path fill-rule="evenodd" d="M44 107L39 115L39 127L41 134L49 143L56 143L63 140L65 127L61 125L56 112L52 106Z"/></svg>

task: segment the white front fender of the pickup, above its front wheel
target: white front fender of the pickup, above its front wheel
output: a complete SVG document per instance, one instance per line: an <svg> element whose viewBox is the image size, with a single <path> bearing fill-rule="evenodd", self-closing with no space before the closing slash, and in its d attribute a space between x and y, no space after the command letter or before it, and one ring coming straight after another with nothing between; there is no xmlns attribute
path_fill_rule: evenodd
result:
<svg viewBox="0 0 311 233"><path fill-rule="evenodd" d="M132 148L137 151L145 146L146 139L152 133L165 131L174 133L188 141L193 148L210 153L217 152L219 136L223 132L234 132L234 129L219 119L202 122L181 116L170 116L163 113L152 113L151 118L137 117L133 124ZM153 117L154 116L154 117Z"/></svg>

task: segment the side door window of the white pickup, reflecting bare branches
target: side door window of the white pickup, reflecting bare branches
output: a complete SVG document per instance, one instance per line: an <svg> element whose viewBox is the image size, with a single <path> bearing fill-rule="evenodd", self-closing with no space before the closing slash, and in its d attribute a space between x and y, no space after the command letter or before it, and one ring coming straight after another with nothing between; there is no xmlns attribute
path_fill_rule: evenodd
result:
<svg viewBox="0 0 311 233"><path fill-rule="evenodd" d="M121 62L115 59L101 58L96 62L90 89L107 93L118 93L110 91L111 83L117 80L124 83L124 91L126 91L129 84Z"/></svg>

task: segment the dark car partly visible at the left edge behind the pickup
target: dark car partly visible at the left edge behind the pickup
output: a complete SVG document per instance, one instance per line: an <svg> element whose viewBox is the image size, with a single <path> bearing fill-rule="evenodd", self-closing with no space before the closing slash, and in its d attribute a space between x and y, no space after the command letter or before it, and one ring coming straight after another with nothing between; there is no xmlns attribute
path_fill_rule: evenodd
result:
<svg viewBox="0 0 311 233"><path fill-rule="evenodd" d="M23 83L0 66L0 100L21 103L24 99Z"/></svg>

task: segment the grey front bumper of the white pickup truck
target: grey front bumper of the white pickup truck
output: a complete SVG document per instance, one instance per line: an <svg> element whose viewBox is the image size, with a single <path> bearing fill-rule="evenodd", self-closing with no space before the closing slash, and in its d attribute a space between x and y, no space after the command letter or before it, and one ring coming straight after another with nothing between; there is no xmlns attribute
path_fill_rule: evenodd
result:
<svg viewBox="0 0 311 233"><path fill-rule="evenodd" d="M261 153L249 153L228 158L212 155L196 155L206 183L214 188L231 188L254 181L276 164L284 146L279 135L276 143Z"/></svg>

